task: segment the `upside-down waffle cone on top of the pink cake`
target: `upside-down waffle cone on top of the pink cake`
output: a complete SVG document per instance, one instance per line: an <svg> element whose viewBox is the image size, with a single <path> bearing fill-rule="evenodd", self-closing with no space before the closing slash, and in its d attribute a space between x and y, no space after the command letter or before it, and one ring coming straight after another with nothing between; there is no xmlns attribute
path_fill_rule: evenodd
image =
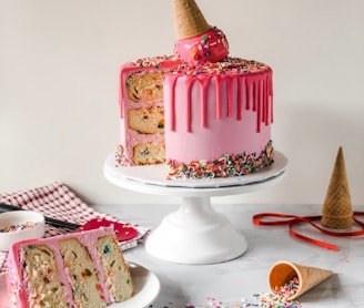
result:
<svg viewBox="0 0 364 308"><path fill-rule="evenodd" d="M194 0L173 0L173 14L178 40L201 35L210 29Z"/></svg>

